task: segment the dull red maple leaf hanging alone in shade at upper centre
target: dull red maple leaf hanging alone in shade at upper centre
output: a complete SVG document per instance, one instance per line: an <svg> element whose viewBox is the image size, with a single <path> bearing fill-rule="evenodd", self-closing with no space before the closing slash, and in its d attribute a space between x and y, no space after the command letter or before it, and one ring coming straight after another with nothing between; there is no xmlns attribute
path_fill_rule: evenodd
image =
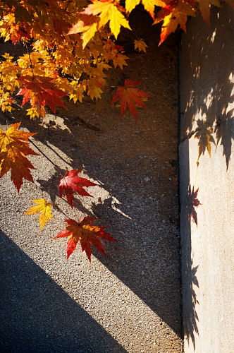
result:
<svg viewBox="0 0 234 353"><path fill-rule="evenodd" d="M123 113L127 107L129 107L130 113L134 116L135 121L137 121L136 104L144 109L148 109L142 98L151 96L148 95L148 93L139 90L139 88L136 88L137 85L140 85L142 82L143 80L132 80L132 78L128 78L125 80L124 86L119 86L117 88L116 95L113 96L111 103L121 100L121 116L123 116Z"/></svg>

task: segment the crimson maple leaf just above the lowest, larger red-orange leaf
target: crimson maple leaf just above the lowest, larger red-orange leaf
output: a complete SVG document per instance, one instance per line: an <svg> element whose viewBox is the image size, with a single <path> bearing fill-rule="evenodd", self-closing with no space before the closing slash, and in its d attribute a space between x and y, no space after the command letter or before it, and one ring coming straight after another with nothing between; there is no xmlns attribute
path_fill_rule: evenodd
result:
<svg viewBox="0 0 234 353"><path fill-rule="evenodd" d="M59 196L63 196L63 191L65 191L66 198L68 200L68 203L73 207L73 200L74 200L74 195L73 191L77 192L81 196L90 196L83 187L89 187L89 186L96 186L98 184L93 183L92 181L81 178L78 176L82 172L82 169L76 169L76 170L70 170L69 172L67 171L65 174L65 177L61 179L59 186L58 186L58 191L59 191Z"/></svg>

